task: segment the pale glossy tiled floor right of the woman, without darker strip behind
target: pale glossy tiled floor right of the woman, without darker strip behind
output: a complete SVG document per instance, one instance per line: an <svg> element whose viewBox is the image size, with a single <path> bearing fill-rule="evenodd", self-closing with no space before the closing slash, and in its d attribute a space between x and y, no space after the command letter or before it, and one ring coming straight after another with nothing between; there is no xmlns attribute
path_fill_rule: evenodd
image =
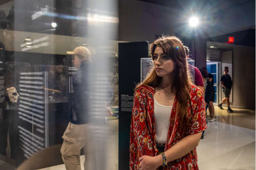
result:
<svg viewBox="0 0 256 170"><path fill-rule="evenodd" d="M220 122L208 123L197 152L200 169L255 169L255 131Z"/></svg>

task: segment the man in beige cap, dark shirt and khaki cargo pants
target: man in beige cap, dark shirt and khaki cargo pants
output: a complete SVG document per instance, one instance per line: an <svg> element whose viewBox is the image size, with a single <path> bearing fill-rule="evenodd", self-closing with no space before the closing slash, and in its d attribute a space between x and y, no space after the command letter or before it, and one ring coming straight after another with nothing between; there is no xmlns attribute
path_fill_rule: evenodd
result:
<svg viewBox="0 0 256 170"><path fill-rule="evenodd" d="M64 132L61 146L62 160L66 169L80 170L80 150L84 149L84 169L93 167L93 139L89 130L89 65L91 53L85 46L78 46L72 52L72 63L78 69L73 76L74 99L70 110L70 123Z"/></svg>

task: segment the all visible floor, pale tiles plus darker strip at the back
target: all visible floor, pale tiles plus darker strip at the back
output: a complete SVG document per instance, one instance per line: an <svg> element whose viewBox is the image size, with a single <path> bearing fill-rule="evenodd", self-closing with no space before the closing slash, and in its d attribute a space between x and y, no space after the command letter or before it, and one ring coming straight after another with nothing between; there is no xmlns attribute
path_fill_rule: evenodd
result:
<svg viewBox="0 0 256 170"><path fill-rule="evenodd" d="M233 110L234 113L230 114L215 107L217 122L208 123L204 139L201 139L197 147L200 169L255 169L255 111ZM118 169L118 120L109 120L108 123L111 127L111 156L106 169ZM84 157L81 156L81 164L83 161ZM63 164L44 168L62 169L65 169Z"/></svg>

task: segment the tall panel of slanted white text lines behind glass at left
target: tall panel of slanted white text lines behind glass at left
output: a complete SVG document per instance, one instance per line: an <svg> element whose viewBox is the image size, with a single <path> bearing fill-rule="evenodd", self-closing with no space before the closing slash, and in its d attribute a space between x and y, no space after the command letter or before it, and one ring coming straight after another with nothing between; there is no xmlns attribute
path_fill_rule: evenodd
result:
<svg viewBox="0 0 256 170"><path fill-rule="evenodd" d="M49 147L48 72L20 72L19 83L20 149L29 158Z"/></svg>

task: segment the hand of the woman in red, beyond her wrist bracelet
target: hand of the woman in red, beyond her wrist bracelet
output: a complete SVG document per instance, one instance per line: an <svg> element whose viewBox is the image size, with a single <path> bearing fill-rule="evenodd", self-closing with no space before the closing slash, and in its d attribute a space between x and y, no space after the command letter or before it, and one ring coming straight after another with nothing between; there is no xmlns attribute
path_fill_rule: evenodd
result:
<svg viewBox="0 0 256 170"><path fill-rule="evenodd" d="M156 170L160 165L163 164L163 158L162 155L158 156L142 156L139 158L140 164L140 170Z"/></svg>

